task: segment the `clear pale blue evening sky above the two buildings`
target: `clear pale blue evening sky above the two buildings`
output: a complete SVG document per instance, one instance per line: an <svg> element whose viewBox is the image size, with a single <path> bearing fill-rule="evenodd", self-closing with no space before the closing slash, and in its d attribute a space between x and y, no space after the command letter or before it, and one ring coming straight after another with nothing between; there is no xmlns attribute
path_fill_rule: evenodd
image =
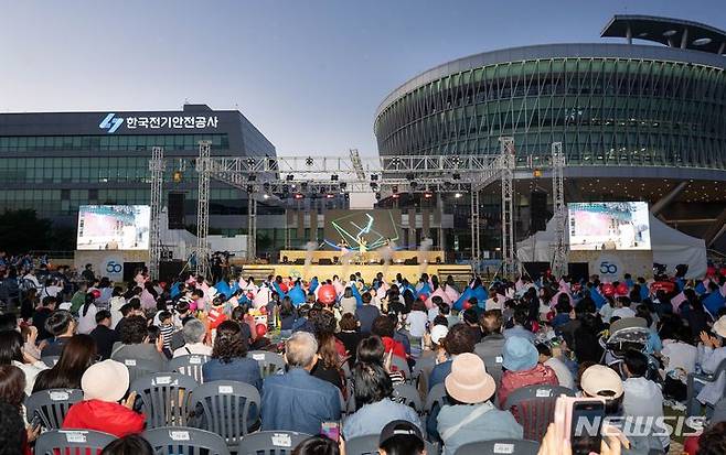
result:
<svg viewBox="0 0 726 455"><path fill-rule="evenodd" d="M726 29L724 0L0 0L0 111L239 109L278 154L376 153L412 76L501 47L597 42L613 13Z"/></svg>

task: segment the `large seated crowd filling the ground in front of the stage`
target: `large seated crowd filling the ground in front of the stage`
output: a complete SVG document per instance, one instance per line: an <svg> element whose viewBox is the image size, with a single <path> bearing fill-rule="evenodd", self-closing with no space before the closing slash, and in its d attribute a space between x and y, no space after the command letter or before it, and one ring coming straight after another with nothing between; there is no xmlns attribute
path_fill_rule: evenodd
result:
<svg viewBox="0 0 726 455"><path fill-rule="evenodd" d="M249 431L316 435L298 454L340 453L338 442L319 435L328 422L340 422L341 441L378 435L382 454L420 454L430 442L452 455L471 442L522 440L529 431L508 399L529 386L601 398L613 418L658 419L669 408L704 414L704 433L687 437L685 448L723 454L723 375L696 383L693 409L683 403L688 375L714 372L726 359L724 272L612 283L551 275L457 283L426 273L416 281L378 273L366 282L355 273L212 283L193 275L154 281L141 269L132 282L113 283L90 266L74 275L0 253L0 446L30 453L40 427L24 398L63 388L84 393L63 427L117 436L105 454L152 453L139 436L146 419L122 360L167 371L172 358L202 355L205 382L259 391ZM285 370L263 377L250 350L282 354ZM424 401L442 390L442 400L417 412L395 398L404 383ZM542 454L565 453L557 432L537 441ZM626 443L604 438L602 453L668 453L670 436L650 425Z"/></svg>

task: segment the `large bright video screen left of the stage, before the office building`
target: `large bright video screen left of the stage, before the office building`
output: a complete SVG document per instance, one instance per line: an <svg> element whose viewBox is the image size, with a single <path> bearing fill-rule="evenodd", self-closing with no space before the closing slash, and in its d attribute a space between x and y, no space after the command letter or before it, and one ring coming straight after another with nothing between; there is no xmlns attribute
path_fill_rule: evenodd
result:
<svg viewBox="0 0 726 455"><path fill-rule="evenodd" d="M82 205L78 207L79 250L147 250L151 207L148 205Z"/></svg>

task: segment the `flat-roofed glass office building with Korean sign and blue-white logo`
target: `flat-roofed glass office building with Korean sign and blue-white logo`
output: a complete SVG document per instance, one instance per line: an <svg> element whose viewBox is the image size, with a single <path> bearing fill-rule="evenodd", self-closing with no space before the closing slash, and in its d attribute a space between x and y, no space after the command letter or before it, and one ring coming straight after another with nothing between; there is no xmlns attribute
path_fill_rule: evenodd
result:
<svg viewBox="0 0 726 455"><path fill-rule="evenodd" d="M212 142L213 156L276 155L242 112L205 105L180 111L0 113L0 210L32 208L58 226L75 226L79 205L149 204L151 148L162 147L163 205L169 193L183 193L185 224L193 228L194 159L202 140ZM245 192L212 182L212 232L244 234L246 201ZM261 204L258 210L284 216ZM282 228L258 232L282 242Z"/></svg>

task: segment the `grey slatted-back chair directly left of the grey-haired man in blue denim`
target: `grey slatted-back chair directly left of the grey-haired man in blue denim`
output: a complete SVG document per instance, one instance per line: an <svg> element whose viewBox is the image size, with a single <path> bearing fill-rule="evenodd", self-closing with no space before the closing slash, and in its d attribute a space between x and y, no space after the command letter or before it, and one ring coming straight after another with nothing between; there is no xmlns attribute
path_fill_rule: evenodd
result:
<svg viewBox="0 0 726 455"><path fill-rule="evenodd" d="M218 434L231 451L237 447L243 436L255 430L260 403L259 391L238 381L207 382L189 397L189 409L197 414L193 426Z"/></svg>

